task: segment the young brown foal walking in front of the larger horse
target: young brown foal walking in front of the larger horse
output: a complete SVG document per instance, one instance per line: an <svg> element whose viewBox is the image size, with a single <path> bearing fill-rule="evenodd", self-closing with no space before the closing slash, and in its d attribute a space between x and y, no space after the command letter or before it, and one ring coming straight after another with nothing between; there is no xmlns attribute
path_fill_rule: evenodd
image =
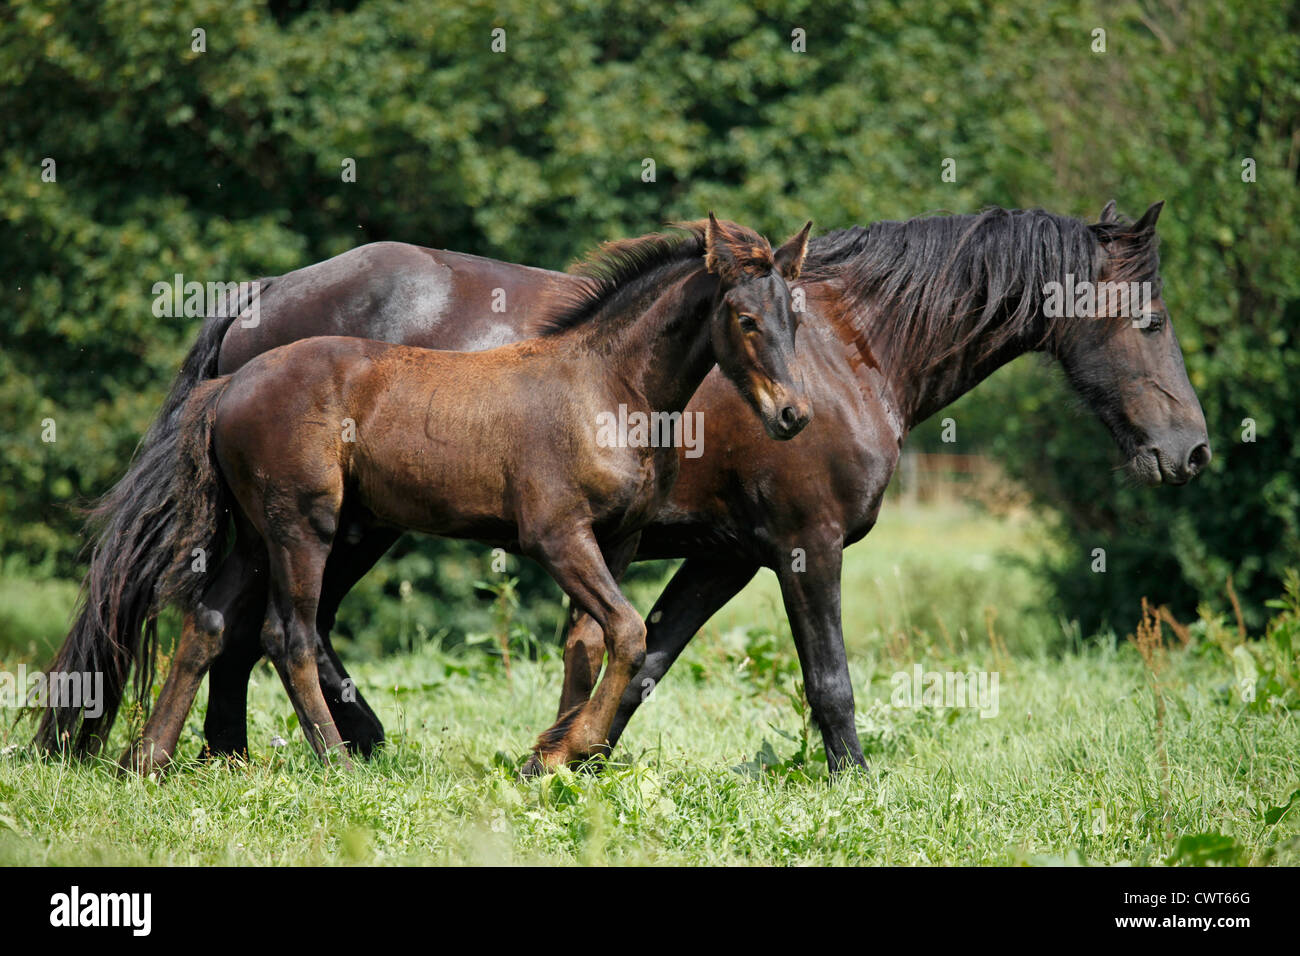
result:
<svg viewBox="0 0 1300 956"><path fill-rule="evenodd" d="M143 773L170 760L224 622L263 572L266 654L313 749L346 763L317 679L316 613L335 537L374 527L541 562L599 627L608 663L594 693L541 736L534 763L606 752L645 658L645 623L618 579L676 480L688 401L716 364L772 438L794 437L811 415L786 286L810 226L776 252L711 215L684 235L607 246L547 332L516 345L450 352L308 338L199 386L183 411L176 559L160 588L187 617L124 763ZM637 412L649 432L601 437L602 419ZM214 576L192 571L195 554L220 554L228 511L234 548Z"/></svg>

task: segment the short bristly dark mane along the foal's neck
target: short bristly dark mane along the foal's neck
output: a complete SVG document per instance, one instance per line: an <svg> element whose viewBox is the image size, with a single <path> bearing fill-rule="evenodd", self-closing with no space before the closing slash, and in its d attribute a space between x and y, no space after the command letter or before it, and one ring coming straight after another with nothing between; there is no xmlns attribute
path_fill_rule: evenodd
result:
<svg viewBox="0 0 1300 956"><path fill-rule="evenodd" d="M680 232L607 242L577 261L569 271L589 281L582 289L556 295L555 303L538 321L537 334L555 336L619 313L620 306L634 300L649 284L659 282L664 269L697 259L697 264L703 267L707 220L673 222L672 228ZM732 247L744 245L755 252L767 250L767 268L771 268L767 239L736 222L720 221L719 229ZM758 267L749 268L755 271Z"/></svg>

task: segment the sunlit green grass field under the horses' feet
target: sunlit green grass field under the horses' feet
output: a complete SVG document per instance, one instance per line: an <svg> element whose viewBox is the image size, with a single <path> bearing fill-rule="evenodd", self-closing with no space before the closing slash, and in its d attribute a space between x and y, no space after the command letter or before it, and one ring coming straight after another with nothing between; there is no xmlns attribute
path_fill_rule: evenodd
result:
<svg viewBox="0 0 1300 956"><path fill-rule="evenodd" d="M850 549L868 774L828 780L766 575L697 637L601 774L514 774L554 717L558 657L510 675L490 653L432 644L356 661L389 745L351 773L309 756L263 666L247 763L196 762L200 709L161 782L38 758L25 727L6 730L0 864L1300 864L1294 696L1243 701L1249 665L1214 622L1147 657L1123 636L1080 641L1008 561L1041 541L1027 519L889 507ZM645 609L653 594L634 597ZM915 663L996 672L996 717L894 706L892 675Z"/></svg>

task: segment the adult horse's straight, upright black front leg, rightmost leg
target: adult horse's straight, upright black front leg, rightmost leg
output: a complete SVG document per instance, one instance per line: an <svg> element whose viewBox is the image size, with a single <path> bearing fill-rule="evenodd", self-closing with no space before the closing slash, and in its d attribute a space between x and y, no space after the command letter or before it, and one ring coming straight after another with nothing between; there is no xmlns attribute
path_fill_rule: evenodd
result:
<svg viewBox="0 0 1300 956"><path fill-rule="evenodd" d="M790 619L794 646L803 669L803 692L812 718L822 728L831 773L866 767L853 713L853 680L844 652L840 623L840 567L844 542L840 537L807 542L805 562L783 561L776 568L781 583L785 614ZM783 549L790 554L792 548Z"/></svg>

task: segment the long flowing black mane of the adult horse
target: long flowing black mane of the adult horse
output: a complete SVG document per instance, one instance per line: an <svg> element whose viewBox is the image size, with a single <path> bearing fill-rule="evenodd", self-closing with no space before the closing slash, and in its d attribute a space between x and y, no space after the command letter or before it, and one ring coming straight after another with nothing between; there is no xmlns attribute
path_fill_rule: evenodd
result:
<svg viewBox="0 0 1300 956"><path fill-rule="evenodd" d="M838 281L858 315L875 306L872 337L923 365L975 341L983 355L1030 336L1035 347L1050 349L1070 320L1040 321L1045 284L1065 282L1066 273L1096 282L1105 263L1105 281L1158 287L1154 232L1126 229L1121 221L1089 226L1044 209L997 207L881 221L812 239L803 277ZM1121 237L1105 255L1102 242Z"/></svg>

